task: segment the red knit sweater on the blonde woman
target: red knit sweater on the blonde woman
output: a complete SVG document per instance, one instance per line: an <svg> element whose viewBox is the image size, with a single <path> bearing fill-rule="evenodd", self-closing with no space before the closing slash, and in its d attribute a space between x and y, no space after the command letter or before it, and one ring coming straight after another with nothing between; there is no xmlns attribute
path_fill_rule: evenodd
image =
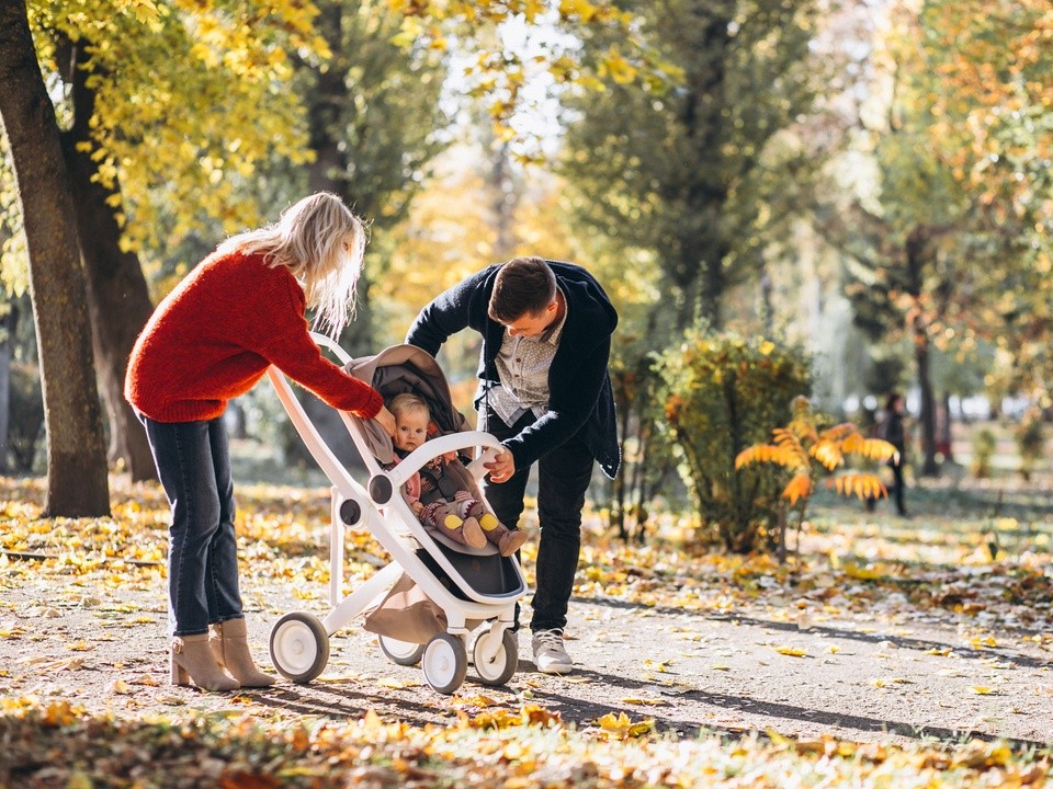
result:
<svg viewBox="0 0 1053 789"><path fill-rule="evenodd" d="M375 416L380 393L321 355L305 309L285 266L213 253L150 317L132 350L124 396L158 422L211 420L273 364L333 408Z"/></svg>

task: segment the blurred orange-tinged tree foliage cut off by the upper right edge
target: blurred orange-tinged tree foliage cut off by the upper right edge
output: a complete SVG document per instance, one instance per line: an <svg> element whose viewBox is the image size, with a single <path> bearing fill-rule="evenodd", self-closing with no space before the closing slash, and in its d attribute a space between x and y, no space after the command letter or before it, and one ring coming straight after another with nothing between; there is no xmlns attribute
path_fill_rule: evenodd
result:
<svg viewBox="0 0 1053 789"><path fill-rule="evenodd" d="M1053 14L1045 0L928 0L930 144L984 219L975 333L1024 392L1053 391Z"/></svg>

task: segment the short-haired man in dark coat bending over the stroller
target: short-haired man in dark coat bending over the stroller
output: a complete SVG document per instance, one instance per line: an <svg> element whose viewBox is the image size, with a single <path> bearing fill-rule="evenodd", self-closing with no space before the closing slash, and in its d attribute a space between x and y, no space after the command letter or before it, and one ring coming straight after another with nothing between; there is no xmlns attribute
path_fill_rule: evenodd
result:
<svg viewBox="0 0 1053 789"><path fill-rule="evenodd" d="M536 582L531 645L539 671L573 668L563 641L593 460L621 457L608 363L618 313L585 268L517 258L473 274L421 310L406 342L432 355L471 328L483 335L476 408L506 451L487 464L486 498L513 528L537 462Z"/></svg>

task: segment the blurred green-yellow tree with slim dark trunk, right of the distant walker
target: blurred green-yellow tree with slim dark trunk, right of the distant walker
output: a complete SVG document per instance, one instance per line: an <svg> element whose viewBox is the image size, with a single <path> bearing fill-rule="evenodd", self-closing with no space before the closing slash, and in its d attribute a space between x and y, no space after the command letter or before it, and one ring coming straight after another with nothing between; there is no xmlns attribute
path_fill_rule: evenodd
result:
<svg viewBox="0 0 1053 789"><path fill-rule="evenodd" d="M976 57L963 30L993 32L1006 20L992 23L990 9L980 3L894 3L887 13L873 50L880 76L873 90L883 95L885 112L871 113L869 122L860 116L861 147L875 165L878 187L819 218L827 238L839 237L835 244L858 264L849 286L857 321L873 336L909 340L921 396L920 471L930 476L938 470L933 345L944 348L964 338L967 350L976 338L997 338L1006 346L1006 334L1033 332L1049 315L1048 300L1035 305L1035 320L1020 306L1028 301L1028 285L1048 294L1050 282L1034 275L1042 268L1029 265L1034 254L1021 254L1032 245L1023 242L1017 219L1034 214L1015 210L1006 199L1007 193L1028 194L1011 185L1018 170L981 175L997 169L999 156L977 156L970 133L977 125L971 114L992 103L985 91L997 93L992 84L1012 81L1005 52L1010 37L984 36L980 52L986 59L972 64L974 81L948 79L955 69L970 70L963 52ZM1033 249L1041 258L1041 244ZM1012 321L1019 321L1018 331L1006 332Z"/></svg>

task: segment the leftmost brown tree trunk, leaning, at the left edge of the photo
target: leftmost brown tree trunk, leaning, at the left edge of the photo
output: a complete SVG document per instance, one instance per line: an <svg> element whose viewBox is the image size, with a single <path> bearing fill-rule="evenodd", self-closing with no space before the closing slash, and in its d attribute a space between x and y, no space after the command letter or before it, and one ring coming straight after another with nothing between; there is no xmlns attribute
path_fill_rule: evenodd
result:
<svg viewBox="0 0 1053 789"><path fill-rule="evenodd" d="M25 225L44 391L44 516L104 516L110 514L106 450L76 215L24 0L0 3L0 118Z"/></svg>

